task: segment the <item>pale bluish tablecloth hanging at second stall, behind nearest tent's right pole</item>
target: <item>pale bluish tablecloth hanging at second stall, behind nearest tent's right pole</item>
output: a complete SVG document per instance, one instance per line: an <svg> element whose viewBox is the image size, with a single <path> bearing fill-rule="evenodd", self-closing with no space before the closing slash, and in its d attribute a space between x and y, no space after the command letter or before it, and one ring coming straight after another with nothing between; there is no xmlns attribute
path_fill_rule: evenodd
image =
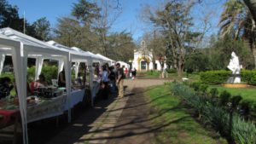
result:
<svg viewBox="0 0 256 144"><path fill-rule="evenodd" d="M76 89L71 92L70 95L70 107L74 107L84 99L84 89ZM68 110L68 101L65 104L65 110Z"/></svg>

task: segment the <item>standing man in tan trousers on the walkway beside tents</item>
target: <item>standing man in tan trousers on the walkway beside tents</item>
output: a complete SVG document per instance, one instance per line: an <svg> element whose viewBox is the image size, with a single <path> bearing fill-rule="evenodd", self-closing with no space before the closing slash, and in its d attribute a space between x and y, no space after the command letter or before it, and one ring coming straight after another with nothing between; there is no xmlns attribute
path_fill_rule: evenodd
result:
<svg viewBox="0 0 256 144"><path fill-rule="evenodd" d="M124 69L120 67L120 64L116 64L116 69L117 69L117 78L116 78L116 84L118 85L119 88L119 95L118 97L122 98L124 97L124 79L125 79L125 73Z"/></svg>

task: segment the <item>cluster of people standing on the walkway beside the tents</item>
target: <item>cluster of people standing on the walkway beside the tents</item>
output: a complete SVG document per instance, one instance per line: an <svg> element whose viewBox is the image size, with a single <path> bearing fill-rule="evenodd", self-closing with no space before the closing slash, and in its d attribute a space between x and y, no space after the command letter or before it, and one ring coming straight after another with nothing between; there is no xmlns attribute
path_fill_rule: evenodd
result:
<svg viewBox="0 0 256 144"><path fill-rule="evenodd" d="M115 66L102 66L101 94L104 99L108 99L109 93L115 95L118 89L118 97L124 96L124 69L117 63Z"/></svg>

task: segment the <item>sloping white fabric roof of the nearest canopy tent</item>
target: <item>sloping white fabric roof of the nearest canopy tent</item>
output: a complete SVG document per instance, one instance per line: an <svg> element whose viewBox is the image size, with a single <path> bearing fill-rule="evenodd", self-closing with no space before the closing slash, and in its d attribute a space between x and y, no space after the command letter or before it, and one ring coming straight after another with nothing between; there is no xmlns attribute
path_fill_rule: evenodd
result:
<svg viewBox="0 0 256 144"><path fill-rule="evenodd" d="M0 29L0 34L3 34L5 37L9 37L12 40L23 43L26 49L28 49L27 52L29 54L38 54L39 52L41 55L55 55L55 57L57 55L67 55L67 51L65 50L57 49L48 43L44 43L43 41L40 41L34 37L17 32L9 27Z"/></svg>

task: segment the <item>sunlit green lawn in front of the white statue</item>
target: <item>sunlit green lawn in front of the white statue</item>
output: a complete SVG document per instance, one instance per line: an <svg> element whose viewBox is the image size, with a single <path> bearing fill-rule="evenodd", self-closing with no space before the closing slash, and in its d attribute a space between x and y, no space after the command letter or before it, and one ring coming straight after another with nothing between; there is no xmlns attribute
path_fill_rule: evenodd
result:
<svg viewBox="0 0 256 144"><path fill-rule="evenodd" d="M218 92L221 93L224 90L230 92L231 95L241 95L245 101L255 101L256 104L256 89L236 89L236 88L224 88L222 86L210 86L211 88L217 88Z"/></svg>

